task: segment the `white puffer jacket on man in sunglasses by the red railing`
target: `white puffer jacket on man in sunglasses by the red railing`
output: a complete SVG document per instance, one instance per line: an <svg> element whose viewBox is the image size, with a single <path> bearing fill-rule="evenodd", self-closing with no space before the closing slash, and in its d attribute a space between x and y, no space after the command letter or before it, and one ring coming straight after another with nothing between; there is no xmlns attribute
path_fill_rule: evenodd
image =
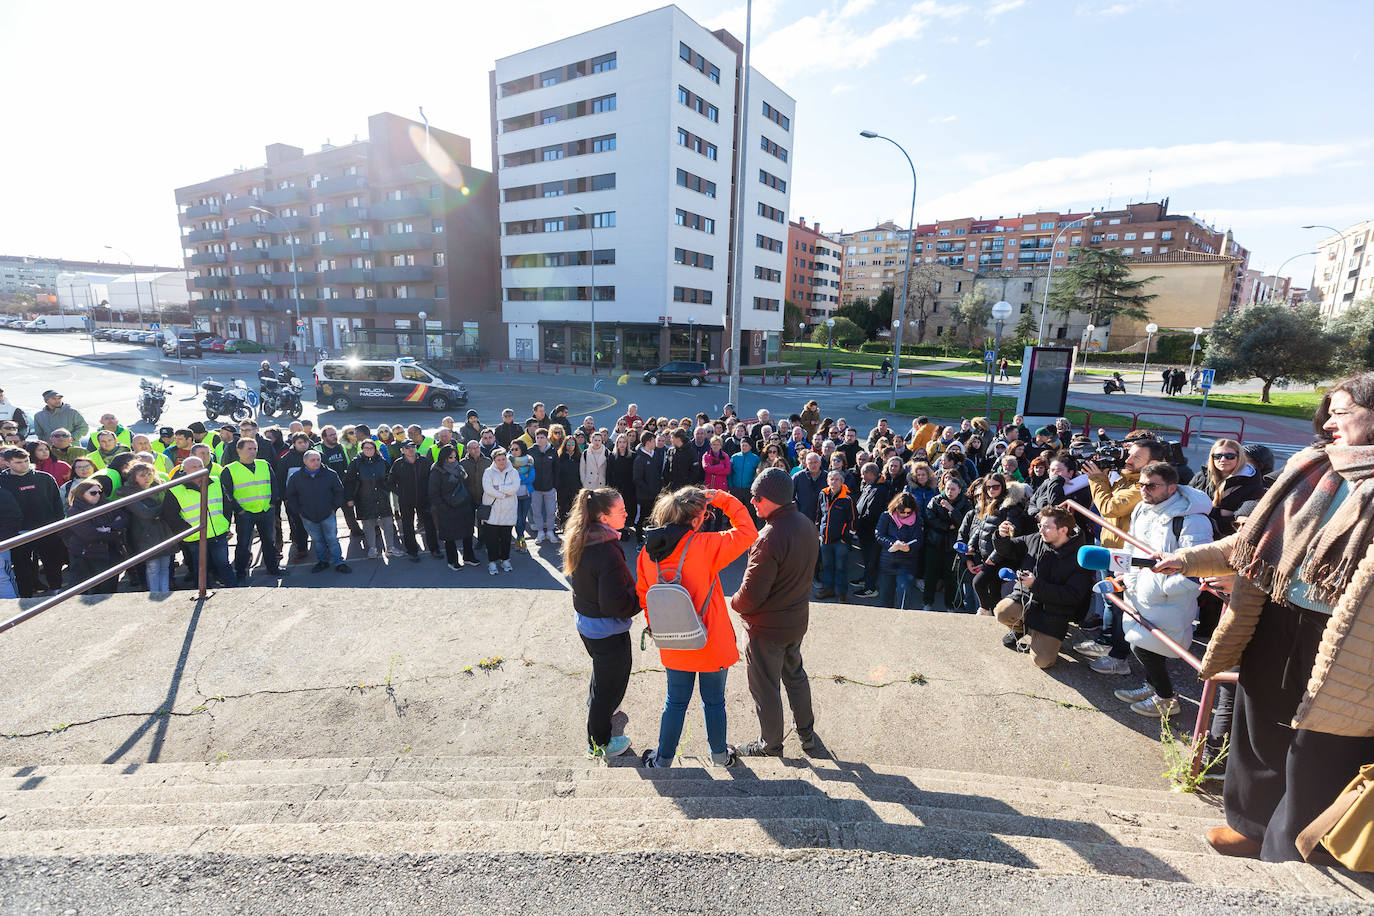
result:
<svg viewBox="0 0 1374 916"><path fill-rule="evenodd" d="M1202 490L1180 486L1171 499L1150 505L1143 500L1131 512L1131 534L1140 538L1160 553L1169 553L1184 547L1212 542L1212 500ZM1183 516L1183 527L1178 540L1173 537L1173 519ZM1173 573L1162 575L1149 569L1132 567L1124 577L1127 600L1151 623L1169 634L1180 645L1193 641L1193 621L1198 611L1200 585L1195 580ZM1150 630L1127 617L1125 639L1134 645L1151 652L1176 658L1173 650L1165 645Z"/></svg>

